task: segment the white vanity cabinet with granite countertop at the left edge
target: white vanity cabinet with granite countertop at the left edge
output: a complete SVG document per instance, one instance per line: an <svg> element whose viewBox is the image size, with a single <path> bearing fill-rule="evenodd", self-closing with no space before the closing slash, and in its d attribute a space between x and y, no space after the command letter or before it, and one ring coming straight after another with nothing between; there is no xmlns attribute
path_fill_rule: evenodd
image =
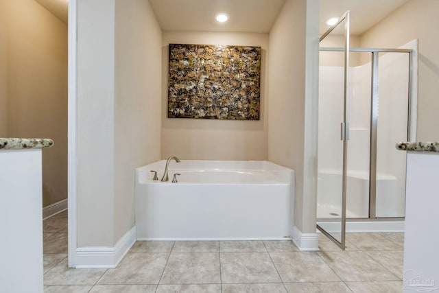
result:
<svg viewBox="0 0 439 293"><path fill-rule="evenodd" d="M43 292L43 145L0 139L0 292Z"/></svg>

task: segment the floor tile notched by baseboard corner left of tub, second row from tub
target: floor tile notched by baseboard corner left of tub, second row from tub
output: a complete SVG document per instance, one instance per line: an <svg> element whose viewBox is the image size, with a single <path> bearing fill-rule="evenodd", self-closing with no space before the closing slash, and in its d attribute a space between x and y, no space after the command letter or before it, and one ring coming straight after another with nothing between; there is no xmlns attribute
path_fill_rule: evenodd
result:
<svg viewBox="0 0 439 293"><path fill-rule="evenodd" d="M117 268L108 269L102 284L158 284L165 268L167 253L128 253Z"/></svg>

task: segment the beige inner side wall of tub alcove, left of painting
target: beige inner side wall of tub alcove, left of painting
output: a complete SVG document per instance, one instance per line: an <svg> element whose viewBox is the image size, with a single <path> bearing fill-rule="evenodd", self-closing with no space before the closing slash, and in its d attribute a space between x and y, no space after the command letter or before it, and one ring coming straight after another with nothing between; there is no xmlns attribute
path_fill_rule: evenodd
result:
<svg viewBox="0 0 439 293"><path fill-rule="evenodd" d="M134 169L161 159L162 32L145 0L116 1L115 239L134 226Z"/></svg>

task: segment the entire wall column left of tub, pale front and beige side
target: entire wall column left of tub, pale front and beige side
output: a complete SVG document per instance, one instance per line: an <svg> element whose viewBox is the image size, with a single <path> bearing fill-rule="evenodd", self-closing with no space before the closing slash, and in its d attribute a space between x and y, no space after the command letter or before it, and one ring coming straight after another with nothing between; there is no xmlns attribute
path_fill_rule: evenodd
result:
<svg viewBox="0 0 439 293"><path fill-rule="evenodd" d="M149 1L78 0L78 247L134 225L134 168L161 158L158 56Z"/></svg>

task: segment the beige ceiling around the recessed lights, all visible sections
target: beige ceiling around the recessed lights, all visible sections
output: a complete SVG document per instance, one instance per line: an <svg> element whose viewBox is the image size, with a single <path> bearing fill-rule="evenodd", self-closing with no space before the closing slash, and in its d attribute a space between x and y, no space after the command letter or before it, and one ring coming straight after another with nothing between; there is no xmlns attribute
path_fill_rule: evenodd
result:
<svg viewBox="0 0 439 293"><path fill-rule="evenodd" d="M35 0L67 23L68 0ZM146 0L145 0L146 1ZM162 30L268 33L285 0L149 0ZM410 0L320 0L320 33L331 16L351 11L351 34L361 35ZM215 14L226 12L227 23Z"/></svg>

